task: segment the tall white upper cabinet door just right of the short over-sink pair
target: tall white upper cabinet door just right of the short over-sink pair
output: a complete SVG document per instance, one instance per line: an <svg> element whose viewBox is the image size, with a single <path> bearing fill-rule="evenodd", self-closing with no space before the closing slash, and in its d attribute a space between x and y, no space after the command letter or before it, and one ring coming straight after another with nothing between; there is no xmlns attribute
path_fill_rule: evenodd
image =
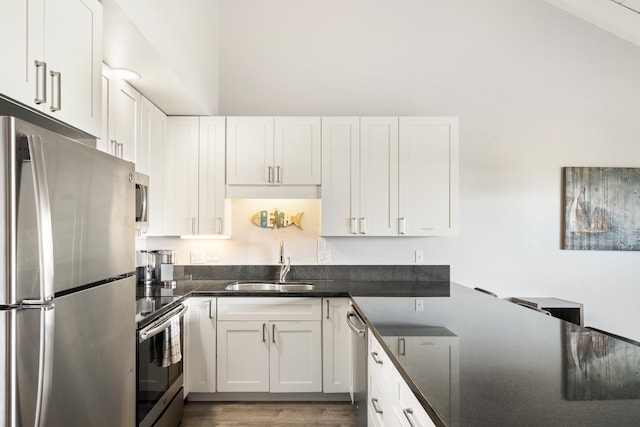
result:
<svg viewBox="0 0 640 427"><path fill-rule="evenodd" d="M323 236L348 236L357 233L359 161L360 119L323 117L321 195L321 234Z"/></svg>

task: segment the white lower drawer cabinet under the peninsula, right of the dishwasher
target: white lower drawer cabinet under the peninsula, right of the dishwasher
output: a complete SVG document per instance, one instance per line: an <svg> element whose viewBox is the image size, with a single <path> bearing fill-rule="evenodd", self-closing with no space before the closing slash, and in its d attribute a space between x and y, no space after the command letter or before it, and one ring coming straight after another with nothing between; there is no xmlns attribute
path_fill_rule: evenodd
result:
<svg viewBox="0 0 640 427"><path fill-rule="evenodd" d="M367 363L369 426L435 426L371 331Z"/></svg>

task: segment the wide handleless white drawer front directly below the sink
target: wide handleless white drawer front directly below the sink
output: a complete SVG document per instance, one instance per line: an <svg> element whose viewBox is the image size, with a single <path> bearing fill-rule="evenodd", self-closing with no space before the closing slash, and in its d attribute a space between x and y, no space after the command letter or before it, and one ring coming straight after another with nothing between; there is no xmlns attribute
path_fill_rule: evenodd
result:
<svg viewBox="0 0 640 427"><path fill-rule="evenodd" d="M218 320L320 320L321 298L218 298Z"/></svg>

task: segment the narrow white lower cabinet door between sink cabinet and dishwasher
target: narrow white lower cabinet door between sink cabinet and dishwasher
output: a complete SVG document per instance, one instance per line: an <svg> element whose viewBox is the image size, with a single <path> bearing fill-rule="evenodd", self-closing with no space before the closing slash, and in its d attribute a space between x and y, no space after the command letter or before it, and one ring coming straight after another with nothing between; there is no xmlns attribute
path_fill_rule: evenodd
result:
<svg viewBox="0 0 640 427"><path fill-rule="evenodd" d="M349 393L351 330L347 325L349 298L325 298L322 318L322 391Z"/></svg>

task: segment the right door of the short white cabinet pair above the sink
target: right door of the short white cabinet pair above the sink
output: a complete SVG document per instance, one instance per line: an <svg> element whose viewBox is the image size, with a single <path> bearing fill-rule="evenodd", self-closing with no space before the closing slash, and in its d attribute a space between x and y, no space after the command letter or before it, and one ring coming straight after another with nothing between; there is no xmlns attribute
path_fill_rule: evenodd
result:
<svg viewBox="0 0 640 427"><path fill-rule="evenodd" d="M319 117L276 117L275 184L320 185Z"/></svg>

